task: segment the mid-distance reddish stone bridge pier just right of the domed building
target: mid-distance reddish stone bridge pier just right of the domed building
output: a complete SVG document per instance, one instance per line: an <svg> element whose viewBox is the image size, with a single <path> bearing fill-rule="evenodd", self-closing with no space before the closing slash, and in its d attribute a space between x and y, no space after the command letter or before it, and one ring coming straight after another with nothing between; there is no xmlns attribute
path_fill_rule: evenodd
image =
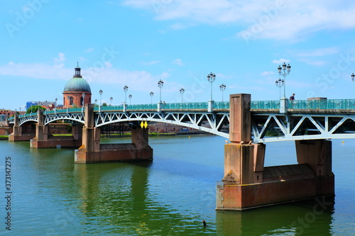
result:
<svg viewBox="0 0 355 236"><path fill-rule="evenodd" d="M75 150L75 163L125 162L152 160L148 129L132 128L132 143L100 144L100 128L94 126L94 104L85 104L82 146Z"/></svg>

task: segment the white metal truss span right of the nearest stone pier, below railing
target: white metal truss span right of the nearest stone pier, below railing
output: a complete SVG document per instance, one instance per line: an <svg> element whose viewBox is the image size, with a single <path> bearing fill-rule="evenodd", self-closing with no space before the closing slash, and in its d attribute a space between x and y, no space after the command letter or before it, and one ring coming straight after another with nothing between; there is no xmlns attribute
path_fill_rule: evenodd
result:
<svg viewBox="0 0 355 236"><path fill-rule="evenodd" d="M252 113L253 141L355 138L355 114Z"/></svg>

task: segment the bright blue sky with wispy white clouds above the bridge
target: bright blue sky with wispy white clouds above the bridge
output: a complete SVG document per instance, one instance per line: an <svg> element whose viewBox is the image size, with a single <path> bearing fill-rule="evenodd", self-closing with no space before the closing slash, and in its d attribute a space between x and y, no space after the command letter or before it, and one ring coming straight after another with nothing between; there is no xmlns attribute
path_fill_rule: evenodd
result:
<svg viewBox="0 0 355 236"><path fill-rule="evenodd" d="M0 25L0 108L62 104L77 63L112 105L157 103L160 79L166 103L355 99L355 1L0 0Z"/></svg>

